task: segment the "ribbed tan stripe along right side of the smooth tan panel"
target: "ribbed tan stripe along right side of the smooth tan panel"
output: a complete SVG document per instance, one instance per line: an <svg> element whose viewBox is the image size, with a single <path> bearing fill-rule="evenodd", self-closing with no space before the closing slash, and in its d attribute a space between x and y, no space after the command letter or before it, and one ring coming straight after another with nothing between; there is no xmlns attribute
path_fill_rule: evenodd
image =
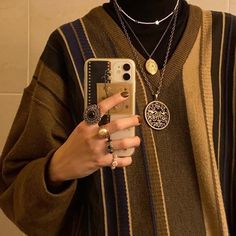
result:
<svg viewBox="0 0 236 236"><path fill-rule="evenodd" d="M221 186L219 175L217 172L215 150L213 145L213 95L212 95L212 84L211 84L211 58L212 58L212 15L211 13L205 12L203 14L203 29L202 29L202 49L201 49L201 88L202 88L202 99L204 105L204 115L207 128L207 140L209 147L209 158L212 172L212 184L214 187L215 201L216 201L216 214L218 218L218 226L220 227L219 232L221 235L228 235L228 228L225 216L225 209L223 204ZM206 56L207 55L207 56Z"/></svg>

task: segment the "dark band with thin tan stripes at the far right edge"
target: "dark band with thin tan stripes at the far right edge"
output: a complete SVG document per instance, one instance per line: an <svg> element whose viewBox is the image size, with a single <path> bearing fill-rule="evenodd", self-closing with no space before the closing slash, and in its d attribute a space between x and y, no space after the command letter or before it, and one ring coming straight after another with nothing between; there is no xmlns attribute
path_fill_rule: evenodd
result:
<svg viewBox="0 0 236 236"><path fill-rule="evenodd" d="M214 96L214 144L218 153L218 171L220 174L224 207L232 235L235 226L235 88L234 61L236 42L236 20L227 13L212 13L212 87ZM217 35L222 37L217 37ZM218 50L217 50L218 48ZM233 50L232 50L233 49ZM220 58L217 61L217 58ZM219 68L219 76L215 68ZM218 96L219 95L219 96ZM218 142L215 140L218 138Z"/></svg>

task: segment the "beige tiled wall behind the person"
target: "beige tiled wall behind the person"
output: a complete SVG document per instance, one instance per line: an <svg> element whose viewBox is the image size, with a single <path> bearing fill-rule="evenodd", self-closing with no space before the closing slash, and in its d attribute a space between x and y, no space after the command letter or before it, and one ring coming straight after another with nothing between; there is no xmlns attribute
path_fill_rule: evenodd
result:
<svg viewBox="0 0 236 236"><path fill-rule="evenodd" d="M106 0L104 0L106 1ZM0 0L0 153L48 35L102 0ZM236 0L191 0L205 9L236 14ZM0 235L23 235L0 212Z"/></svg>

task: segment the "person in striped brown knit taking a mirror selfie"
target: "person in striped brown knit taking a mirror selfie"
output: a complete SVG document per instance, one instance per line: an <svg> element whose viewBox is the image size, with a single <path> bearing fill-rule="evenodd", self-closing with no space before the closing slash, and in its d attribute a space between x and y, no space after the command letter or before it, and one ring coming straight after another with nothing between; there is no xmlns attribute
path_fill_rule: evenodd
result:
<svg viewBox="0 0 236 236"><path fill-rule="evenodd" d="M234 235L235 39L235 16L184 0L112 0L55 30L2 153L7 217L40 236ZM101 126L84 119L91 57L136 63L136 115L102 126L136 128L112 140L132 157L107 152Z"/></svg>

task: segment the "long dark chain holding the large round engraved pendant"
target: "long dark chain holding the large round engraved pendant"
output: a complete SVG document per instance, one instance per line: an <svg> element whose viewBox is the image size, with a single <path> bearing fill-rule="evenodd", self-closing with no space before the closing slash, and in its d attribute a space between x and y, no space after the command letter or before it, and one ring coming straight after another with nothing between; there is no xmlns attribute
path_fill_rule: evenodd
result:
<svg viewBox="0 0 236 236"><path fill-rule="evenodd" d="M171 34L170 34L170 39L169 39L169 43L168 43L168 47L167 47L167 51L166 51L166 56L165 56L165 60L164 60L164 64L163 64L163 68L161 70L161 75L160 75L160 82L159 82L159 85L157 87L157 91L155 92L153 87L152 87L152 84L150 83L150 81L147 79L147 75L143 69L143 66L141 65L140 63L140 60L139 60L139 56L137 54L137 52L135 51L133 45L132 45L132 42L131 42L131 39L129 37L129 34L128 34L128 31L125 27L125 24L124 24L124 21L120 15L120 12L119 12L119 9L118 9L118 6L115 4L115 1L114 1L114 7L115 7L115 10L116 10L116 13L117 13L117 16L120 20L120 23L122 25L122 28L124 30L124 33L125 33L125 36L129 42L129 45L132 49L132 52L133 52L133 55L138 63L138 67L140 68L140 71L142 73L142 76L144 78L144 80L146 81L147 85L148 85L148 88L149 90L151 91L151 94L153 95L153 97L155 98L155 100L158 99L158 96L161 92L161 87L162 87L162 84L163 84L163 79L164 79L164 75L165 75L165 71L166 71L166 66L167 66L167 62L168 62L168 58L169 58L169 54L170 54L170 49L171 49L171 45L172 45L172 42L173 42L173 37L174 37L174 32L175 32L175 28L176 28L176 23L177 23L177 16L178 16L178 5L177 5L177 8L174 12L174 23L173 23L173 27L171 29Z"/></svg>

